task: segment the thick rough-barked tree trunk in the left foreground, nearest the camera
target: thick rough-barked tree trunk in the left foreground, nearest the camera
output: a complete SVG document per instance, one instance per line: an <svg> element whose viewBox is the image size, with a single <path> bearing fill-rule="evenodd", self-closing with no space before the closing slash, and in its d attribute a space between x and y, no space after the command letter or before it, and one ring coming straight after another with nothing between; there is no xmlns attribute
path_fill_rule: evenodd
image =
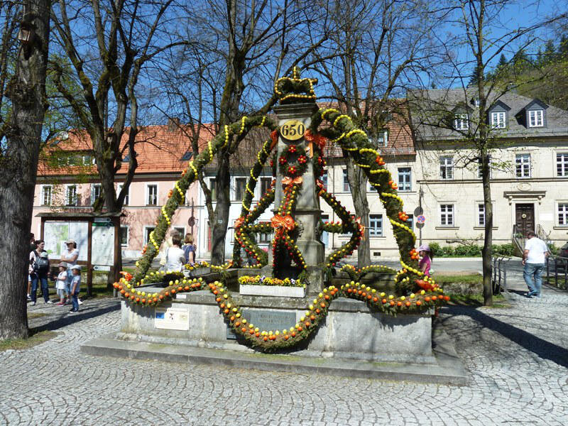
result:
<svg viewBox="0 0 568 426"><path fill-rule="evenodd" d="M9 88L13 116L0 156L0 339L28 336L29 232L46 102L50 1L26 1L25 12L35 38L18 52Z"/></svg>

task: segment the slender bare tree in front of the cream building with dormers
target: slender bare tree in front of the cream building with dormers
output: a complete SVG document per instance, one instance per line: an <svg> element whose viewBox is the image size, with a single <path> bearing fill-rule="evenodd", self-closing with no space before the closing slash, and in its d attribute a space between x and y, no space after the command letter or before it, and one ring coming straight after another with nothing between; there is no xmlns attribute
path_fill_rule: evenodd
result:
<svg viewBox="0 0 568 426"><path fill-rule="evenodd" d="M483 273L484 273L484 303L493 305L493 292L491 288L491 244L493 241L493 205L491 203L491 181L490 181L490 153L491 150L498 148L503 141L504 133L487 120L488 111L500 97L515 87L513 80L503 81L497 77L488 78L491 64L499 58L501 53L507 51L523 51L531 45L537 38L537 30L548 25L561 16L535 21L527 27L517 27L515 22L503 22L503 16L507 15L506 9L514 2L506 0L466 0L460 1L452 9L452 20L450 23L454 28L458 28L457 38L454 43L446 44L447 61L452 65L451 74L448 79L452 82L459 82L462 87L463 97L461 103L464 104L469 99L476 99L474 107L464 105L464 108L471 108L468 114L469 123L467 126L454 125L455 114L449 111L449 99L445 96L432 99L427 92L417 94L418 102L413 109L420 116L418 121L426 123L427 126L437 129L448 129L457 135L462 146L468 149L461 151L462 161L465 164L479 163L481 171L481 185L484 194L484 246ZM527 5L525 5L527 6ZM465 55L455 55L458 49L465 49ZM471 58L471 59L470 59ZM470 80L471 84L467 87ZM426 101L426 102L424 102ZM427 105L426 109L424 106ZM453 102L455 107L455 99ZM464 113L467 114L467 113ZM425 119L425 121L423 121ZM463 143L464 142L464 143Z"/></svg>

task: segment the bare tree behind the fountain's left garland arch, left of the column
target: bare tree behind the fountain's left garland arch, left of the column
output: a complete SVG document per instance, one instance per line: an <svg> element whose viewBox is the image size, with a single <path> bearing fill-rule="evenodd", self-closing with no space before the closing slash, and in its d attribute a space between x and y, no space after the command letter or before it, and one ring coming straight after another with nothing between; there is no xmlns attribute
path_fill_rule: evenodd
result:
<svg viewBox="0 0 568 426"><path fill-rule="evenodd" d="M296 0L209 0L202 10L192 8L188 38L199 48L189 52L188 58L193 81L200 89L191 94L192 99L189 92L175 94L182 99L185 114L192 111L188 122L194 126L190 129L205 120L214 123L212 130L217 134L244 114L266 114L276 102L275 80L305 63L327 40L325 15L325 9ZM242 140L233 138L217 152L214 207L210 188L200 179L212 226L213 263L224 261L231 158Z"/></svg>

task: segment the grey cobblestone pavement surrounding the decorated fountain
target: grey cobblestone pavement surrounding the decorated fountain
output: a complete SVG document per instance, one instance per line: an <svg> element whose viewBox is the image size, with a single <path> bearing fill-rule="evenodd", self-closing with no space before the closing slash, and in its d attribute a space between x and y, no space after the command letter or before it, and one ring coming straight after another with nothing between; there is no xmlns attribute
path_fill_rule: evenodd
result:
<svg viewBox="0 0 568 426"><path fill-rule="evenodd" d="M59 334L0 352L0 425L566 425L568 295L544 293L442 309L463 387L88 356L80 345L116 331L118 302L75 316L40 304L31 326Z"/></svg>

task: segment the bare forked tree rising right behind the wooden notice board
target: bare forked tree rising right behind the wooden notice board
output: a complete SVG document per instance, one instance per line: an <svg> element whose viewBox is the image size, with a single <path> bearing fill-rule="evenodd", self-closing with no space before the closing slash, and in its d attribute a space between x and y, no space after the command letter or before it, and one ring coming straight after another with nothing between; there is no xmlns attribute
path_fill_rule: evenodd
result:
<svg viewBox="0 0 568 426"><path fill-rule="evenodd" d="M138 81L149 78L143 74L148 63L184 43L170 40L167 33L165 21L173 20L168 16L172 3L59 0L54 7L55 40L72 65L50 63L55 84L92 141L108 212L122 208L138 165ZM72 92L63 77L77 81L80 91ZM116 194L114 178L126 153L128 169Z"/></svg>

